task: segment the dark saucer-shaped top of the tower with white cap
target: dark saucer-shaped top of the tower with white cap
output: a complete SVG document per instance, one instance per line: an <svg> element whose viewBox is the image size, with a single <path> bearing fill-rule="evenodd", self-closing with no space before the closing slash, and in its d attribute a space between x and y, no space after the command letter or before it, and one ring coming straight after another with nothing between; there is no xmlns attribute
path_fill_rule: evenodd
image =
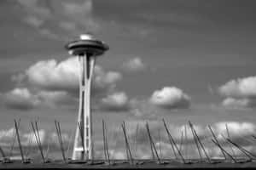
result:
<svg viewBox="0 0 256 170"><path fill-rule="evenodd" d="M102 55L108 50L108 45L90 34L82 34L79 40L75 40L67 43L65 48L68 50L69 54L83 56L87 55Z"/></svg>

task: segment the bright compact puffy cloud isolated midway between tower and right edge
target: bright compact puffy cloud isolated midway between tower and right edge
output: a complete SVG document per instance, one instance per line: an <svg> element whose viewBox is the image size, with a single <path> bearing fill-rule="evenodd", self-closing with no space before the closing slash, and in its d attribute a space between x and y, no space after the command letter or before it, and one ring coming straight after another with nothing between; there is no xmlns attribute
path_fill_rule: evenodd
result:
<svg viewBox="0 0 256 170"><path fill-rule="evenodd" d="M149 101L168 109L189 108L190 105L189 95L176 87L164 87L154 91Z"/></svg>

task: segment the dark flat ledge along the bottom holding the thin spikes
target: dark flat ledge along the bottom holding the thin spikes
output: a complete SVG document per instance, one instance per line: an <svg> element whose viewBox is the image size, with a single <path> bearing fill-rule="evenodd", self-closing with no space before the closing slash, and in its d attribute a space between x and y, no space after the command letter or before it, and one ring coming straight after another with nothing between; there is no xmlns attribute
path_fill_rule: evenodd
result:
<svg viewBox="0 0 256 170"><path fill-rule="evenodd" d="M218 161L218 160L215 160ZM256 161L232 163L230 161L218 161L216 163L195 162L183 164L181 161L165 160L165 163L159 164L152 160L136 160L134 165L129 161L112 160L113 165L108 165L107 161L94 161L94 164L89 162L73 162L65 163L64 161L51 161L49 163L31 162L22 163L21 161L13 161L12 163L1 163L0 168L244 168L256 167Z"/></svg>

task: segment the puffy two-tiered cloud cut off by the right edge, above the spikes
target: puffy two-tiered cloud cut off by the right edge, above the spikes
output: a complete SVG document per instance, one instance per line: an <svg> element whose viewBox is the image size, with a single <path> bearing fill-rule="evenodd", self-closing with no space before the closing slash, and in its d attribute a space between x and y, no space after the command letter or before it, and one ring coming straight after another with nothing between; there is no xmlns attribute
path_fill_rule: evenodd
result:
<svg viewBox="0 0 256 170"><path fill-rule="evenodd" d="M256 77L244 77L230 80L218 88L225 97L222 105L227 108L240 109L256 106Z"/></svg>

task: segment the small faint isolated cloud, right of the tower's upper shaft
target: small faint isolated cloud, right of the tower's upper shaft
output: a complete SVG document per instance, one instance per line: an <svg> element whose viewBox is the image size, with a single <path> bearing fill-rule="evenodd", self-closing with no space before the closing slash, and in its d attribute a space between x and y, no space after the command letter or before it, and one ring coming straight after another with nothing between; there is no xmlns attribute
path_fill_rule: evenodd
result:
<svg viewBox="0 0 256 170"><path fill-rule="evenodd" d="M125 71L143 71L146 68L143 60L139 57L129 59L122 65Z"/></svg>

